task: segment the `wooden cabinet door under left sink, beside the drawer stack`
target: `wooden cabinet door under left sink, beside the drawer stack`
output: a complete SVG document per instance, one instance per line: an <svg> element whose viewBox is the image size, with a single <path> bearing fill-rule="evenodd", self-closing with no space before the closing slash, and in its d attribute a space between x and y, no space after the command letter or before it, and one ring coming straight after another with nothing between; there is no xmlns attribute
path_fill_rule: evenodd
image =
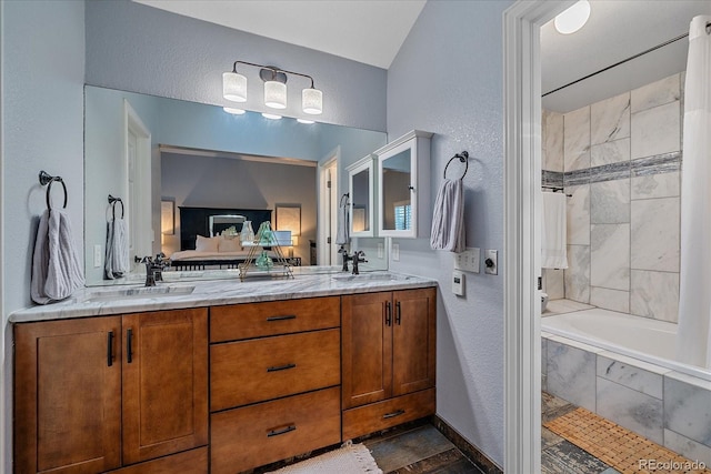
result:
<svg viewBox="0 0 711 474"><path fill-rule="evenodd" d="M208 442L208 312L123 316L123 464Z"/></svg>

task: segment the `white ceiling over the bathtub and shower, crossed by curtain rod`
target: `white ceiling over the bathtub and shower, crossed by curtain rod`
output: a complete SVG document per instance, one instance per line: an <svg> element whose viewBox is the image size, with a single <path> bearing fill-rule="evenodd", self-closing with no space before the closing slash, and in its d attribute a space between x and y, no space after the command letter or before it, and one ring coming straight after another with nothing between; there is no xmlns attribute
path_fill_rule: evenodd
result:
<svg viewBox="0 0 711 474"><path fill-rule="evenodd" d="M689 32L711 14L711 0L591 0L590 20L573 34L541 29L541 89L549 92ZM687 38L543 98L569 112L685 70Z"/></svg>

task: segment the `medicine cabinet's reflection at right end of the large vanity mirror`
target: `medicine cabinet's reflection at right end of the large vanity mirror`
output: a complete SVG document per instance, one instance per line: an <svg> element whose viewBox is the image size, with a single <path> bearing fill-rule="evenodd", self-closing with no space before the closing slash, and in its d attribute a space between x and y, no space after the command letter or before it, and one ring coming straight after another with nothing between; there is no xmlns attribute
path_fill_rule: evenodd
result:
<svg viewBox="0 0 711 474"><path fill-rule="evenodd" d="M373 157L348 167L351 236L373 236Z"/></svg>

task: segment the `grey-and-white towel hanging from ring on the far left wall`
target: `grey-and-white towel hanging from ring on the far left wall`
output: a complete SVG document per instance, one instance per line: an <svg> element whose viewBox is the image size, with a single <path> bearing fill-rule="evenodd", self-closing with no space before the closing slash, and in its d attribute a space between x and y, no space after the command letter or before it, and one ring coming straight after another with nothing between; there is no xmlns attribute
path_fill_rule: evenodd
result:
<svg viewBox="0 0 711 474"><path fill-rule="evenodd" d="M32 256L32 301L47 304L63 300L83 284L83 269L68 215L57 209L44 211Z"/></svg>

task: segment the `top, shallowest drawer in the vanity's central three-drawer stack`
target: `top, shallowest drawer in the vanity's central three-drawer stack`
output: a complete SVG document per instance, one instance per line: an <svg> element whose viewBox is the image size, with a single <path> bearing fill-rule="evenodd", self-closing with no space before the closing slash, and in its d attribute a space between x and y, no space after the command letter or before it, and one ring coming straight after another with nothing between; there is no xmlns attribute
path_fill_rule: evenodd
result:
<svg viewBox="0 0 711 474"><path fill-rule="evenodd" d="M341 325L339 296L210 309L210 342L289 334Z"/></svg>

